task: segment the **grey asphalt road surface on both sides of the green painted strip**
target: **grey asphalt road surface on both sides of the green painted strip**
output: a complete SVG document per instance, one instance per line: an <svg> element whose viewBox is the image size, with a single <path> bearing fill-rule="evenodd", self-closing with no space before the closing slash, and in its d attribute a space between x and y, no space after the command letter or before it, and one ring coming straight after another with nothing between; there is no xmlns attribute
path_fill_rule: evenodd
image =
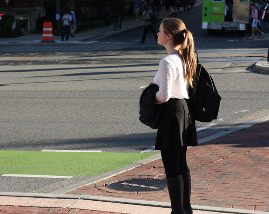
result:
<svg viewBox="0 0 269 214"><path fill-rule="evenodd" d="M200 12L194 8L182 19L222 101L217 120L197 123L199 139L269 115L269 76L253 71L267 56L266 44L208 36ZM139 86L152 82L166 52L152 35L138 44L141 35L135 29L92 44L1 48L0 148L142 152L154 146L156 130L138 120ZM84 179L0 177L0 190L51 192Z"/></svg>

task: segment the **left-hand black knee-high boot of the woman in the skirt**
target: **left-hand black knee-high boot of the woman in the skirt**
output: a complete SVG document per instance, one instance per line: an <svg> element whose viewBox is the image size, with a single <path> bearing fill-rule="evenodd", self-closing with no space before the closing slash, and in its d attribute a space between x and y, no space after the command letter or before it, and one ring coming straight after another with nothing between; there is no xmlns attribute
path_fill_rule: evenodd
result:
<svg viewBox="0 0 269 214"><path fill-rule="evenodd" d="M171 200L171 214L185 214L183 209L183 179L182 176L166 178Z"/></svg>

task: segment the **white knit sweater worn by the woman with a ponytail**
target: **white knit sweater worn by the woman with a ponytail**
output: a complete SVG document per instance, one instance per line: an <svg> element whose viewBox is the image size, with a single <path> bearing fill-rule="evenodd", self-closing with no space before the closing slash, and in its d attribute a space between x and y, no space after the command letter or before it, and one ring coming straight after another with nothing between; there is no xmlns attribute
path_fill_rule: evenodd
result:
<svg viewBox="0 0 269 214"><path fill-rule="evenodd" d="M159 86L155 98L156 103L164 103L170 98L189 99L189 85L185 80L185 75L179 54L170 54L162 58L153 80Z"/></svg>

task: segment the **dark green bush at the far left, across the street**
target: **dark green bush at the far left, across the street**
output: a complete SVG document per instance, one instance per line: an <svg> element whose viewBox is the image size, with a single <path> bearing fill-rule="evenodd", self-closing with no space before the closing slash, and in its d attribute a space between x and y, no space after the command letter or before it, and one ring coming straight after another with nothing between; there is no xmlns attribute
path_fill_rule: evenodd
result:
<svg viewBox="0 0 269 214"><path fill-rule="evenodd" d="M16 37L21 36L21 25L19 22L16 23L16 29L12 32L12 23L15 18L12 15L4 15L1 19L1 31L0 37Z"/></svg>

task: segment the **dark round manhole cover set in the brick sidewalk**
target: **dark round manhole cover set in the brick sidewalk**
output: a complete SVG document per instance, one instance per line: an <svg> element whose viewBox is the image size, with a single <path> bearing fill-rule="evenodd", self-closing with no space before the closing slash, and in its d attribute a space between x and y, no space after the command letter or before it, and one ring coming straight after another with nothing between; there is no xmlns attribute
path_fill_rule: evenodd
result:
<svg viewBox="0 0 269 214"><path fill-rule="evenodd" d="M166 181L151 178L138 178L115 181L106 185L107 188L119 191L158 191L166 188Z"/></svg>

